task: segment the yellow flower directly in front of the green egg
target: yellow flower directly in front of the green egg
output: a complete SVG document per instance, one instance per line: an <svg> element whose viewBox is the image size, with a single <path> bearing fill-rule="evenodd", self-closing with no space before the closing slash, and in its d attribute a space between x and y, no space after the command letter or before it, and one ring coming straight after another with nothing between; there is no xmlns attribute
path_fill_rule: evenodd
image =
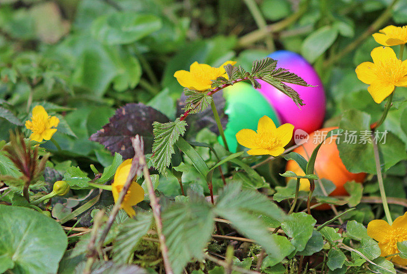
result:
<svg viewBox="0 0 407 274"><path fill-rule="evenodd" d="M266 115L258 120L257 132L243 129L236 134L238 143L250 148L249 155L279 156L284 152L284 146L293 137L294 126L284 124L276 128L271 118Z"/></svg>

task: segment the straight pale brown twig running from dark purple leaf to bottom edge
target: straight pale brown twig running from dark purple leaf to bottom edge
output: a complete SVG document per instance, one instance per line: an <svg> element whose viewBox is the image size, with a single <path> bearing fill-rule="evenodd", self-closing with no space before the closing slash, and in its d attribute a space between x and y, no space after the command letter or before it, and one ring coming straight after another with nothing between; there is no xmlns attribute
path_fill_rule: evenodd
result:
<svg viewBox="0 0 407 274"><path fill-rule="evenodd" d="M147 188L149 190L149 196L150 196L150 205L151 205L151 208L153 209L154 220L156 221L157 234L158 234L158 239L160 240L160 249L161 249L162 259L164 261L165 273L172 274L173 271L172 271L171 265L169 263L168 249L165 244L165 236L162 233L162 220L161 220L160 205L158 204L158 198L156 197L156 195L154 193L153 182L150 179L150 172L146 165L146 158L144 157L144 152L143 152L144 151L143 141L142 141L142 138L138 135L136 135L135 138L132 138L131 141L133 143L133 147L134 147L134 151L135 151L134 157L137 157L138 164L140 165L140 167L142 167L142 170L143 170L144 180L146 180L146 182L147 182Z"/></svg>

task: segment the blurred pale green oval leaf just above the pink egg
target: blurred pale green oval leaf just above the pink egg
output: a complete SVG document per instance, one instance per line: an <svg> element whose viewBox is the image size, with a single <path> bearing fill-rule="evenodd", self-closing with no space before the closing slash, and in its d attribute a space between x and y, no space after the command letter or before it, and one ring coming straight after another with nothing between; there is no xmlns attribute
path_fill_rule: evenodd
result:
<svg viewBox="0 0 407 274"><path fill-rule="evenodd" d="M338 29L331 26L318 28L304 39L301 46L301 55L310 63L314 63L316 58L323 54L336 40Z"/></svg>

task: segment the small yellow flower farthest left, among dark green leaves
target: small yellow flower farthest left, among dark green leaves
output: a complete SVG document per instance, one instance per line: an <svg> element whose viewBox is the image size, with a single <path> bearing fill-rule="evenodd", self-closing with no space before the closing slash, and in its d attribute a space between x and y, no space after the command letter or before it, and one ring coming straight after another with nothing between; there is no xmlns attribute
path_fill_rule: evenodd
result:
<svg viewBox="0 0 407 274"><path fill-rule="evenodd" d="M33 141L41 142L51 139L52 135L56 132L56 129L60 123L60 119L55 116L49 116L43 106L35 106L33 109L33 116L31 121L25 121L25 127L28 130L32 130L30 139Z"/></svg>

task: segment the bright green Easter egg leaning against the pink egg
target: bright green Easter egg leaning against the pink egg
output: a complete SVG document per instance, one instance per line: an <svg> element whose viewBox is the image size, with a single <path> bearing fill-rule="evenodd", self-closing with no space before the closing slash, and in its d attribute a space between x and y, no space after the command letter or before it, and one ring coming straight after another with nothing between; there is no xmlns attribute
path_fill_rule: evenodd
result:
<svg viewBox="0 0 407 274"><path fill-rule="evenodd" d="M230 151L236 152L236 133L242 129L256 131L258 120L264 115L269 116L276 127L280 125L273 107L251 84L239 82L226 87L223 96L226 100L225 113L228 115L224 133ZM223 144L220 136L218 140Z"/></svg>

